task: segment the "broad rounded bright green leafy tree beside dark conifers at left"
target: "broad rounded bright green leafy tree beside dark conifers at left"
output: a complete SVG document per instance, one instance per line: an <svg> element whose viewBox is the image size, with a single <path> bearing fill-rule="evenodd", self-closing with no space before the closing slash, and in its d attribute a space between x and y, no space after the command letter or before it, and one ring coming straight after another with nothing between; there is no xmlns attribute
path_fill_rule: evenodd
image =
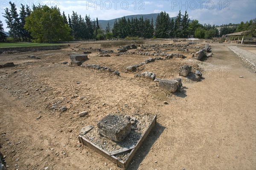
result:
<svg viewBox="0 0 256 170"><path fill-rule="evenodd" d="M26 17L26 28L35 42L56 42L71 40L70 28L56 7L34 6Z"/></svg>

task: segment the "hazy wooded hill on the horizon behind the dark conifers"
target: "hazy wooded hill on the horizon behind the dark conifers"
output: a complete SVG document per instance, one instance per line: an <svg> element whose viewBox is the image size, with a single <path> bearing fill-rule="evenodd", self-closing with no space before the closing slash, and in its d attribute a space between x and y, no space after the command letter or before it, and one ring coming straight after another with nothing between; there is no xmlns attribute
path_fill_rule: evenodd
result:
<svg viewBox="0 0 256 170"><path fill-rule="evenodd" d="M144 20L145 20L145 19L149 19L150 21L151 21L151 18L153 18L154 23L155 23L158 14L160 14L160 13L128 15L128 16L125 16L125 18L126 18L126 20L127 20L128 18L131 20L131 18L138 18L138 19L139 19L140 17L143 17ZM120 18L122 18L122 17L120 17ZM173 18L175 19L176 17L173 17ZM118 19L119 19L119 18L115 18L115 19L112 19L112 20L99 20L99 25L102 27L102 29L106 29L107 24L108 24L108 22L109 22L110 29L112 29L113 26L114 26L115 20L118 21ZM172 19L172 17L171 17L171 19Z"/></svg>

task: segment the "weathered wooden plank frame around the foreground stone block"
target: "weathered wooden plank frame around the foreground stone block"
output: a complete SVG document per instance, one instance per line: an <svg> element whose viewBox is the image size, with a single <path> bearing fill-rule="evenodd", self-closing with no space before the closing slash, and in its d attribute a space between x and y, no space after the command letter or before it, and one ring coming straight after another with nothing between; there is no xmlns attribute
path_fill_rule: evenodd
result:
<svg viewBox="0 0 256 170"><path fill-rule="evenodd" d="M145 132L143 133L142 137L140 138L140 140L137 142L137 144L134 147L122 148L122 149L119 149L119 150L115 150L113 152L108 152L106 150L103 150L102 148L96 146L95 144L93 144L92 142L88 141L87 139L85 139L81 135L78 136L78 139L79 139L79 142L82 143L83 145L93 149L97 153L99 153L102 156L104 156L105 158L109 159L110 161L115 163L118 167L121 167L121 168L125 169L126 167L128 167L129 162L133 158L133 156L136 153L136 151L139 149L140 145L143 143L143 141L148 136L148 133L151 131L151 129L154 127L154 125L156 125L156 122L157 122L157 115L154 116L154 118L152 119L150 125L145 130ZM115 156L116 154L127 152L127 151L130 151L130 153L125 158L125 161L122 161L122 159L119 159L119 158L117 158Z"/></svg>

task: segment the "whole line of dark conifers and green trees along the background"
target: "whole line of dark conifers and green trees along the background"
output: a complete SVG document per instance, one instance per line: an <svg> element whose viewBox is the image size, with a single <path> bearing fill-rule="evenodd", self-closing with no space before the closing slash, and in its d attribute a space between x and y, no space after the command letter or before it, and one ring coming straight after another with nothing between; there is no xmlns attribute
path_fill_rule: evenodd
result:
<svg viewBox="0 0 256 170"><path fill-rule="evenodd" d="M217 29L215 25L202 25L198 20L190 21L187 11L179 13L177 17L170 18L165 11L157 15L154 23L153 18L125 18L115 20L111 29L109 23L106 28L99 26L98 18L91 20L87 14L85 17L76 12L68 17L59 8L48 6L29 6L21 4L19 13L15 3L9 2L10 9L6 8L3 17L9 28L9 36L15 41L35 42L58 42L75 40L104 40L111 38L144 37L144 38L188 38L197 37L210 39L221 37L224 34L247 31L248 34L256 35L256 19L241 22L240 24L228 24ZM248 31L251 30L251 31ZM0 21L0 41L6 40L3 32L3 24Z"/></svg>

